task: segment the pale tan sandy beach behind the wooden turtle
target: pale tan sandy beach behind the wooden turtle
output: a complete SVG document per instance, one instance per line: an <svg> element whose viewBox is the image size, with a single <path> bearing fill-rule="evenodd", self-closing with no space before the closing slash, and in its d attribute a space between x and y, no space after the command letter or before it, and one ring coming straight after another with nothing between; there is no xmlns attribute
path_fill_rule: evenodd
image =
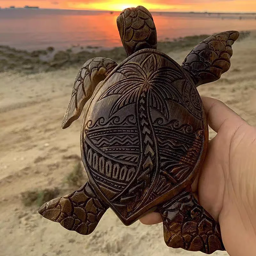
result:
<svg viewBox="0 0 256 256"><path fill-rule="evenodd" d="M256 125L255 40L252 32L236 42L231 69L219 81L198 88L200 95L222 100L252 125ZM181 63L190 48L177 48L168 55ZM125 227L110 209L89 236L37 213L45 196L63 196L76 188L71 176L81 163L82 116L66 130L61 122L77 71L65 67L46 73L0 73L0 256L204 255L168 248L162 224L145 226L137 221Z"/></svg>

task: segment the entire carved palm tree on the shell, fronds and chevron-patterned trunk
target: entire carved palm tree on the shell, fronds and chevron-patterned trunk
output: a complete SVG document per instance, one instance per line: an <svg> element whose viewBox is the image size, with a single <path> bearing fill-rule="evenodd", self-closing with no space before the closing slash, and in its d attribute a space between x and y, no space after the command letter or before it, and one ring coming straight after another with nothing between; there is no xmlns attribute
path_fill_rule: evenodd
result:
<svg viewBox="0 0 256 256"><path fill-rule="evenodd" d="M158 172L158 148L151 109L156 109L166 120L170 114L166 100L173 100L180 103L181 95L178 90L171 86L174 81L184 79L183 74L168 67L158 68L156 56L151 54L141 65L128 63L122 66L117 72L125 78L113 84L104 92L100 99L110 95L122 95L113 105L110 116L113 116L121 108L135 103L135 113L139 128L140 138L140 164L134 177L134 186L128 192L127 199L141 201L136 205L138 208L148 196L152 188L150 184L156 178ZM147 189L147 191L145 191ZM143 195L143 198L141 196ZM140 198L140 200L138 200ZM122 197L122 201L125 198ZM135 210L134 207L132 207Z"/></svg>

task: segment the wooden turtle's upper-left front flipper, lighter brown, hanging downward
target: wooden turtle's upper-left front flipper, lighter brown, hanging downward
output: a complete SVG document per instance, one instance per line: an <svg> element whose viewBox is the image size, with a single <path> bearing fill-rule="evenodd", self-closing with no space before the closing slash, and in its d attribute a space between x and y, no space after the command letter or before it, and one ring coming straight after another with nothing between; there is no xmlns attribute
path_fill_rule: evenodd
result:
<svg viewBox="0 0 256 256"><path fill-rule="evenodd" d="M92 97L95 87L117 66L114 60L102 57L86 61L76 76L62 128L69 127L81 115L84 104Z"/></svg>

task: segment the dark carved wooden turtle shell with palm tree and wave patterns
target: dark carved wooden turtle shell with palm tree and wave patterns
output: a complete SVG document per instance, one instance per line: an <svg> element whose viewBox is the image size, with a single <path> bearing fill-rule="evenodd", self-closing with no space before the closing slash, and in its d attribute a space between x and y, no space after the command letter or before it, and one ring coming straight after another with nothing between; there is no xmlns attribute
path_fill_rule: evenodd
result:
<svg viewBox="0 0 256 256"><path fill-rule="evenodd" d="M98 86L81 131L90 183L125 225L192 184L206 142L195 84L153 49L132 54Z"/></svg>

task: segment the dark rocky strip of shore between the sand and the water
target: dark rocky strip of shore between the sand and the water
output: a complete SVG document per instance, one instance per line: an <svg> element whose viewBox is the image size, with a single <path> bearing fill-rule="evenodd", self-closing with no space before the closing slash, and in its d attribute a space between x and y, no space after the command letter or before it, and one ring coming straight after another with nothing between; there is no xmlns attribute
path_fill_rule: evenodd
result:
<svg viewBox="0 0 256 256"><path fill-rule="evenodd" d="M251 31L241 31L238 40L250 36ZM166 54L172 51L191 50L210 35L185 36L173 41L158 42L158 50ZM123 47L104 49L104 47L73 46L66 50L56 50L54 47L36 51L19 50L7 45L0 45L0 73L6 71L36 74L58 69L79 67L86 60L102 56L120 63L126 58Z"/></svg>

